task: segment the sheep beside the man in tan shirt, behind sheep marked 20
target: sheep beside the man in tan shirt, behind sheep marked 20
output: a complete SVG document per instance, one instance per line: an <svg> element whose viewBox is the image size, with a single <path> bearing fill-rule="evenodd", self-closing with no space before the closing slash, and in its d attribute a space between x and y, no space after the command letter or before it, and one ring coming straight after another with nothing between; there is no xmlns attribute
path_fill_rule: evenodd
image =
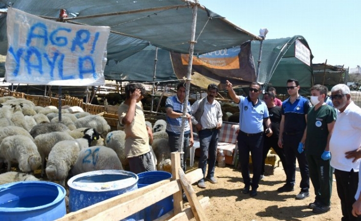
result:
<svg viewBox="0 0 361 221"><path fill-rule="evenodd" d="M129 165L128 158L125 156L125 132L122 130L115 130L109 132L105 138L105 146L113 149L119 159L123 168Z"/></svg>

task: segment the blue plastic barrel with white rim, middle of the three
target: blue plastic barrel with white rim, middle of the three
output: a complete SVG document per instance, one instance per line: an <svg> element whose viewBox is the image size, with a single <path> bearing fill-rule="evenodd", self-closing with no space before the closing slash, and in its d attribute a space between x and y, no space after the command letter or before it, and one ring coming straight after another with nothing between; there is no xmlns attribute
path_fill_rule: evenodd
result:
<svg viewBox="0 0 361 221"><path fill-rule="evenodd" d="M69 210L74 212L105 199L138 189L138 176L123 170L80 173L68 180ZM122 220L139 220L136 213Z"/></svg>

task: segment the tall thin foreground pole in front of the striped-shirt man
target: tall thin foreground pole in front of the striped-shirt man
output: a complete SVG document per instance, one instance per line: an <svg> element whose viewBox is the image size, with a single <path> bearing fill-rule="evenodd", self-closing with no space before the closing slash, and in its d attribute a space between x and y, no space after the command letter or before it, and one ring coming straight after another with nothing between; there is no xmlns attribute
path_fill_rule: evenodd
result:
<svg viewBox="0 0 361 221"><path fill-rule="evenodd" d="M183 139L184 139L184 128L185 128L185 120L188 120L186 117L187 112L187 105L188 105L188 99L189 99L189 87L190 87L190 76L192 73L192 65L193 65L193 53L194 53L194 45L196 44L195 38L196 38L196 25L197 25L197 10L198 10L198 0L195 1L195 4L193 5L193 21L192 21L192 33L190 36L189 41L189 59L188 59L188 67L187 67L187 78L185 79L186 85L185 85L185 98L184 98L184 106L183 106L183 119L182 119L182 126L181 126L181 133L180 133L180 140L179 145L183 145ZM176 211L175 211L176 212Z"/></svg>

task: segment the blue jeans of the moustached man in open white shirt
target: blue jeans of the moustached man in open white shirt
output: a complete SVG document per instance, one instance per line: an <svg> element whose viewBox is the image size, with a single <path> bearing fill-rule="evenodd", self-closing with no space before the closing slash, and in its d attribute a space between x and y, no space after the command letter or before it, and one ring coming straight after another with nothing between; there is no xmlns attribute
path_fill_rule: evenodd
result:
<svg viewBox="0 0 361 221"><path fill-rule="evenodd" d="M208 172L207 177L213 177L215 175L217 146L218 146L218 132L219 130L201 130L198 132L199 145L201 149L201 157L199 158L198 168L202 169L203 179L199 180L204 182L205 170L207 168L208 160ZM209 158L208 158L209 156Z"/></svg>

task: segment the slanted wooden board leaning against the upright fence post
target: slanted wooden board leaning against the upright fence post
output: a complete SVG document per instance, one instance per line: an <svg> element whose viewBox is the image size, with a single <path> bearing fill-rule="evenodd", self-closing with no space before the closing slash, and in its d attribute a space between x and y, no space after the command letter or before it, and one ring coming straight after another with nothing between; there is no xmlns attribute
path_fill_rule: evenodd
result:
<svg viewBox="0 0 361 221"><path fill-rule="evenodd" d="M187 196L190 209L192 209L192 212L194 214L194 217L196 218L197 221L208 221L207 216L205 215L205 212L198 201L196 192L194 191L192 184L190 184L187 178L185 177L185 174L182 169L179 169L179 176L182 187L184 188L185 195Z"/></svg>

